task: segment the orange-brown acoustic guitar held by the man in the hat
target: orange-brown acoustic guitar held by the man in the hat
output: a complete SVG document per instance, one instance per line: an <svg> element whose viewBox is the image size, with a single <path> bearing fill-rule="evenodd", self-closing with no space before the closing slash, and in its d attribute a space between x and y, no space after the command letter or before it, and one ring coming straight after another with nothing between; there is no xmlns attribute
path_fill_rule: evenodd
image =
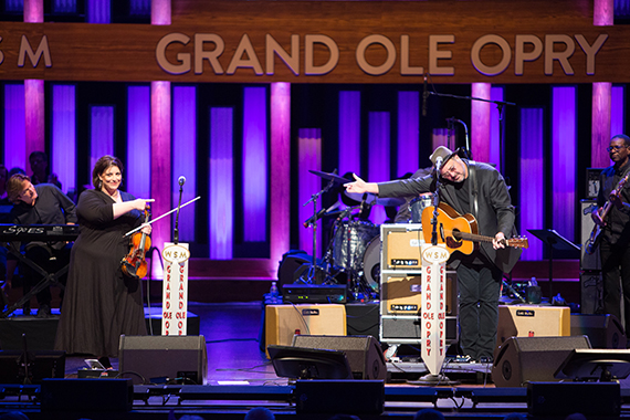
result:
<svg viewBox="0 0 630 420"><path fill-rule="evenodd" d="M422 211L422 235L426 243L431 243L433 209L431 206ZM438 243L445 244L450 252L459 251L470 255L474 251L475 242L492 243L494 240L493 237L484 237L477 232L479 225L474 216L469 213L462 216L445 202L438 206ZM504 239L503 244L523 249L529 246L527 238L524 237Z"/></svg>

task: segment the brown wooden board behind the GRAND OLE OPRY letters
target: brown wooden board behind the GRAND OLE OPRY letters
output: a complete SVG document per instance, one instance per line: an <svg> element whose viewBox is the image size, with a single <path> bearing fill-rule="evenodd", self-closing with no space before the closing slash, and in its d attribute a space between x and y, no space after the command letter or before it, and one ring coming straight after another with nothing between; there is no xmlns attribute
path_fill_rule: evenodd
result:
<svg viewBox="0 0 630 420"><path fill-rule="evenodd" d="M171 44L167 57L177 63L177 54L189 54L191 70L183 74L165 72L156 60L156 45L171 33L191 39L187 45ZM217 34L225 50L218 59L225 71L244 34L251 40L255 56L265 70L265 35L271 34L285 50L291 51L292 34L300 36L300 74L275 57L275 74L255 75L252 69L238 69L234 74L214 74L208 61L203 72L195 74L196 33ZM17 65L22 35L32 49L45 34L52 55L52 66L43 59L36 69L27 59L23 67ZM339 48L339 61L327 74L304 73L304 39L308 34L329 36ZM384 35L396 48L391 70L370 75L359 67L356 50L368 35ZM624 25L594 27L592 1L588 0L512 0L512 1L239 1L188 0L172 3L171 25L148 24L86 24L86 23L22 23L2 22L0 27L0 78L44 78L55 81L128 81L147 82L234 82L234 83L421 83L420 75L401 74L401 35L409 35L409 65L429 71L429 38L454 35L454 43L440 50L451 51L452 59L439 60L441 66L453 66L453 75L432 75L434 83L592 83L630 82L626 71L630 64L630 29ZM506 70L495 76L481 74L471 63L472 45L482 35L502 36L511 49L512 60ZM567 35L575 43L569 63L575 72L566 75L557 61L553 75L545 75L545 52L524 63L524 74L515 74L515 35L536 35L545 48L546 35ZM595 55L595 75L586 72L586 55L576 41L582 34L592 43L598 35L608 39ZM212 50L213 44L207 44ZM558 45L557 50L564 50ZM490 44L481 52L486 65L501 61L501 50ZM380 65L387 55L385 49L372 45L366 61ZM243 59L248 59L243 55ZM328 60L328 51L315 48L313 61L321 65Z"/></svg>

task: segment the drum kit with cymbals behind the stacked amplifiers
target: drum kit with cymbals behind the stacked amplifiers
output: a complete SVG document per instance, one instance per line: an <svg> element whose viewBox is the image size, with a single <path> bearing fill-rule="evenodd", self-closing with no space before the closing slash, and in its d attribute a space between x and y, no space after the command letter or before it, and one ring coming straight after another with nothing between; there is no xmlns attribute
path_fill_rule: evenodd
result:
<svg viewBox="0 0 630 420"><path fill-rule="evenodd" d="M343 178L335 172L328 174L316 170L309 170L309 172L329 180L328 186L324 190L313 196L315 200L316 196L318 197L322 192L329 190L333 185L343 186L351 182L351 180ZM336 216L332 225L330 240L323 258L322 264L324 266L316 266L313 263L308 273L301 281L313 283L314 274L323 271L325 273L323 283L342 283L343 279L346 279L348 298L357 301L378 300L380 286L380 227L367 218L372 206L401 206L405 203L405 199L378 198L372 193L360 195L347 191L344 191L344 193L349 199L360 202L360 204L329 212L318 212L315 207L313 217L308 219L308 223L305 223L305 225L313 224L315 227L314 222L317 219ZM312 200L305 204L312 202ZM313 234L316 234L315 230ZM314 238L313 241L313 249L315 250L316 239Z"/></svg>

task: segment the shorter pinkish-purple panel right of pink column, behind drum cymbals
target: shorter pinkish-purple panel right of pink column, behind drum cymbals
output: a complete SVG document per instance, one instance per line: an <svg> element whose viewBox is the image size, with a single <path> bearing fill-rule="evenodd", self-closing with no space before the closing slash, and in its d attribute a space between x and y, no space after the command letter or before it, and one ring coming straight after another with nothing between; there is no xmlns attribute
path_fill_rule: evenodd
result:
<svg viewBox="0 0 630 420"><path fill-rule="evenodd" d="M314 193L322 190L322 178L308 170L322 170L322 130L319 128L300 128L297 139L297 217L300 221L313 216L314 206L307 202ZM317 210L322 202L317 201ZM322 221L317 221L317 230L322 232ZM300 249L315 256L322 255L322 235L317 237L317 249L313 252L313 227L300 229Z"/></svg>

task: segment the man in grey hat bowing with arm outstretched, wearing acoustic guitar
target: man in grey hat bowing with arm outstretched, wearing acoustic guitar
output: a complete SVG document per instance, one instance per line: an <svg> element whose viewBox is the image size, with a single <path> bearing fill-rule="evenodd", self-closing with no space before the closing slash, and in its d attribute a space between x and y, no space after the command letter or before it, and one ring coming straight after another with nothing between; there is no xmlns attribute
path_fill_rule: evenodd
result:
<svg viewBox="0 0 630 420"><path fill-rule="evenodd" d="M492 166L463 159L443 146L430 159L431 175L382 183L366 182L355 175L356 181L346 189L380 197L413 196L434 191L438 175L440 200L460 214L474 216L479 233L493 238L470 254L454 252L449 260L458 272L460 346L471 359L489 363L496 345L503 273L512 271L522 252L505 248L506 237L514 231L514 207L503 177Z"/></svg>

